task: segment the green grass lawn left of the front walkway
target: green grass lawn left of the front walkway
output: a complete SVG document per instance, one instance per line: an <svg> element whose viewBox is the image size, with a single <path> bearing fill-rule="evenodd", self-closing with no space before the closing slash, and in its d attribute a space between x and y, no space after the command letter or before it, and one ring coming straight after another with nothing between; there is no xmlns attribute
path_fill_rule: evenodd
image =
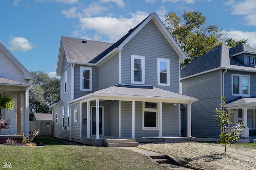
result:
<svg viewBox="0 0 256 170"><path fill-rule="evenodd" d="M166 169L147 156L126 149L65 145L49 138L35 142L45 147L0 146L0 168L36 170L145 170ZM10 164L9 164L10 165Z"/></svg>

